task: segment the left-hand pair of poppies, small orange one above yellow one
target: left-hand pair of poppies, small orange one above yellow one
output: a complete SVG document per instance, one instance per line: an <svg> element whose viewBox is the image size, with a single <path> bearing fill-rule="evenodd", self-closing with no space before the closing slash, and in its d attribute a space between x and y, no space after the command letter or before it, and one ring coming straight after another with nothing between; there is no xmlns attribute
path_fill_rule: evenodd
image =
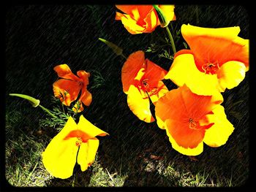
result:
<svg viewBox="0 0 256 192"><path fill-rule="evenodd" d="M67 107L75 101L72 110L82 112L83 104L89 106L92 101L91 93L87 90L90 73L80 70L76 76L67 64L55 66L54 71L61 77L53 83L54 96ZM69 117L64 128L42 153L42 163L50 174L61 179L72 176L76 163L80 164L84 172L94 162L97 154L99 139L96 137L106 135L108 133L94 126L83 115L80 115L78 124Z"/></svg>

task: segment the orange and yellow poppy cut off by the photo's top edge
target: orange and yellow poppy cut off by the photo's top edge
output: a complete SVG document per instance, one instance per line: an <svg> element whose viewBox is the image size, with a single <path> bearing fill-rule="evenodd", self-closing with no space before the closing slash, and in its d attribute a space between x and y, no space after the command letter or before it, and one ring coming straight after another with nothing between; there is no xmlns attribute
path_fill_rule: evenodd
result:
<svg viewBox="0 0 256 192"><path fill-rule="evenodd" d="M121 20L130 34L151 33L160 21L152 5L116 5L121 12L116 12L116 20ZM165 14L167 23L176 20L174 5L158 5Z"/></svg>

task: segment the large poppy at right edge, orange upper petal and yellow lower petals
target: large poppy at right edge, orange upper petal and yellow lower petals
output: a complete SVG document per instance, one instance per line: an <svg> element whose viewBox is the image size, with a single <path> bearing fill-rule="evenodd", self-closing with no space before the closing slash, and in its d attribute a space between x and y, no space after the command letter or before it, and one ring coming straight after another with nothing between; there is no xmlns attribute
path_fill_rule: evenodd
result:
<svg viewBox="0 0 256 192"><path fill-rule="evenodd" d="M165 77L193 93L212 95L236 87L249 70L249 40L238 37L239 27L200 28L182 25L190 50L176 53Z"/></svg>

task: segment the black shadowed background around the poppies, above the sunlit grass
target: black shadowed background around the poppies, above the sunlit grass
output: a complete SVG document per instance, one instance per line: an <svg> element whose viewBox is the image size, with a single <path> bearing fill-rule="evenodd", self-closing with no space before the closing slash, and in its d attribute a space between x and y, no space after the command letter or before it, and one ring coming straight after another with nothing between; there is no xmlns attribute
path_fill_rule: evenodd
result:
<svg viewBox="0 0 256 192"><path fill-rule="evenodd" d="M128 56L137 50L146 51L155 35L165 37L165 31L157 27L151 34L129 34L121 21L115 20L116 10L112 4L31 4L7 7L6 112L22 112L24 119L20 121L20 128L26 126L23 122L31 120L34 131L38 130L39 119L45 118L45 113L8 94L33 96L41 101L42 106L51 109L52 84L57 80L53 67L68 64L74 73L78 70L91 72L89 91L93 99L83 115L110 134L109 137L99 138L99 157L102 166L108 167L108 170L121 164L125 167L129 174L125 186L141 185L141 180L143 185L170 184L165 183L156 172L148 174L141 171L145 163L143 158L150 154L164 157L165 165L174 163L190 172L199 169L210 172L215 167L219 175L225 176L230 175L232 169L235 185L244 185L249 176L249 72L238 87L222 94L225 99L222 105L235 131L223 147L211 148L205 145L203 153L197 156L200 163L195 164L187 156L172 149L165 131L159 129L156 123L144 123L129 110L127 95L121 87L121 67L125 60L116 56L98 38L115 43ZM176 4L175 12L177 20L173 25L178 28L183 23L211 28L240 26L238 36L249 39L250 18L246 7ZM182 41L182 37L176 39L177 50L184 48ZM159 58L157 53L146 53L146 58L165 69L169 69L171 64L167 58ZM95 83L95 70L105 81L98 88L91 88ZM49 133L48 137L54 137L54 133ZM239 155L241 153L242 156ZM230 162L230 157L234 155L237 158L232 159L236 160Z"/></svg>

